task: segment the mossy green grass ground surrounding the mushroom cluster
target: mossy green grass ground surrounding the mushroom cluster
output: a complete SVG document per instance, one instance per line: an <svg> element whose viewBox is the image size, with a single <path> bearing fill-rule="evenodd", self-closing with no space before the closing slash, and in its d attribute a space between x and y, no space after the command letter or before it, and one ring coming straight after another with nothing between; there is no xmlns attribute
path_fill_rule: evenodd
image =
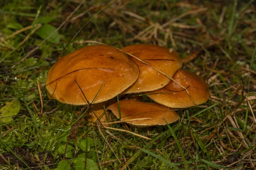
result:
<svg viewBox="0 0 256 170"><path fill-rule="evenodd" d="M0 158L0 169L84 169L85 160L87 166L100 163L102 170L255 169L256 122L251 109L256 112L256 102L255 98L247 102L244 96L256 96L256 1L91 2L83 3L70 19L90 9L86 14L65 23L48 40L51 30L79 6L77 1L0 2L0 108L12 100L21 104L11 122L0 122L0 154L9 161ZM170 20L172 25L157 27ZM41 30L35 31L38 23ZM21 31L28 26L32 27ZM16 31L21 32L6 39ZM136 43L163 45L175 49L181 58L200 51L183 68L209 84L212 95L203 104L207 108L178 109L180 120L170 127L127 125L131 132L151 140L111 129L99 131L96 124L92 127L86 121L78 128L77 141L67 140L79 123L76 111L82 106L49 101L45 82L58 57L93 45L84 43L87 40L117 48ZM150 101L146 96L143 100ZM123 123L111 127L125 129ZM67 159L63 159L61 149L66 145Z"/></svg>

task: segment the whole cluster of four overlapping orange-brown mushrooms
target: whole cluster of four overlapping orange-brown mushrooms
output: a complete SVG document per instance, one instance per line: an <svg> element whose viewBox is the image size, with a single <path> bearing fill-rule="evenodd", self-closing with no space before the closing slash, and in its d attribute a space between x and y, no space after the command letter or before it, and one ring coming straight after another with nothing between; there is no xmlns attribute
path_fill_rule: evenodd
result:
<svg viewBox="0 0 256 170"><path fill-rule="evenodd" d="M130 45L121 50L91 45L57 60L48 72L47 95L70 105L93 104L93 122L107 121L103 106L109 105L108 110L131 125L166 125L179 119L171 108L200 105L209 98L204 80L181 67L175 51L158 45ZM118 94L136 93L156 103L113 100Z"/></svg>

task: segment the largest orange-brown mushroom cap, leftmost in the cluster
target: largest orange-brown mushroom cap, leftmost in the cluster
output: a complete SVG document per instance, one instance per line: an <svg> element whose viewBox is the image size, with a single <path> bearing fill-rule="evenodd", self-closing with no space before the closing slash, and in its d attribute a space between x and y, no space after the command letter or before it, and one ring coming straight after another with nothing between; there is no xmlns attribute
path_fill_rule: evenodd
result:
<svg viewBox="0 0 256 170"><path fill-rule="evenodd" d="M104 102L131 86L139 70L126 54L109 45L92 45L60 57L48 72L50 99L71 105ZM76 84L75 80L79 84Z"/></svg>

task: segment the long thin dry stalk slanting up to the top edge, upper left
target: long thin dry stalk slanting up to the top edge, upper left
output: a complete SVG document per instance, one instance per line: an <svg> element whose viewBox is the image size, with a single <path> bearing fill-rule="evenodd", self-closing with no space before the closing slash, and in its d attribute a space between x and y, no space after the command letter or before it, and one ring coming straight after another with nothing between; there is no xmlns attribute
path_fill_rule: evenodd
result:
<svg viewBox="0 0 256 170"><path fill-rule="evenodd" d="M81 2L79 4L78 7L76 7L76 9L67 17L67 19L61 23L61 25L55 30L52 32L52 34L50 34L47 38L45 38L36 48L34 48L33 50L31 50L29 52L29 54L27 54L25 57L23 57L19 62L17 62L15 65L12 65L12 68L14 68L16 65L20 64L20 62L23 62L26 58L28 58L35 50L37 50L42 44L44 44L44 42L46 42L46 40L48 40L50 37L52 37L53 34L55 34L55 32L57 32L62 26L64 26L65 23L67 23L67 21L70 19L70 17L81 7L81 5L83 4L84 2Z"/></svg>

